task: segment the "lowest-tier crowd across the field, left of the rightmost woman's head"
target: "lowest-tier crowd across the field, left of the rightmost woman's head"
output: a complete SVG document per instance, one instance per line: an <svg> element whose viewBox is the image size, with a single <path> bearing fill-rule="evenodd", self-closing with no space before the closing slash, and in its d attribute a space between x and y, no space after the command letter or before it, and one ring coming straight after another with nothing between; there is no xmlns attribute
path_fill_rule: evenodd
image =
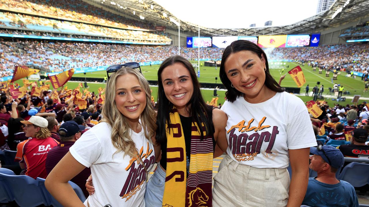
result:
<svg viewBox="0 0 369 207"><path fill-rule="evenodd" d="M220 59L222 49L204 48L200 58ZM176 55L177 46L135 46L78 42L1 42L1 70L14 69L14 63L37 65L50 71L78 67L106 66L122 62L152 62ZM57 56L55 56L57 55ZM197 59L197 49L181 48L181 55ZM8 75L8 73L6 73Z"/></svg>

